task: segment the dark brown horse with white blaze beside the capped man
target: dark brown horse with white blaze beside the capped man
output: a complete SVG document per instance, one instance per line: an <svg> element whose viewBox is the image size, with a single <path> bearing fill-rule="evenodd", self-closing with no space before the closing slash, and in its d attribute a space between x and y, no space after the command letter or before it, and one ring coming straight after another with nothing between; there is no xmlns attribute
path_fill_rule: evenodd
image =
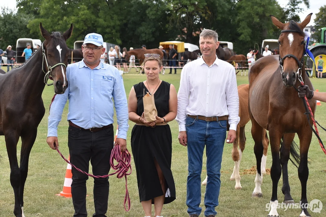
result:
<svg viewBox="0 0 326 217"><path fill-rule="evenodd" d="M45 38L42 49L38 49L24 65L0 75L0 135L4 135L6 140L10 183L15 194L14 214L17 217L24 217L23 194L29 154L45 113L42 100L44 71L53 79L55 93L64 93L68 86L66 66L69 48L66 40L71 36L73 26L71 24L63 35L60 32L50 35L41 23L39 27ZM22 139L20 166L17 162L19 137Z"/></svg>

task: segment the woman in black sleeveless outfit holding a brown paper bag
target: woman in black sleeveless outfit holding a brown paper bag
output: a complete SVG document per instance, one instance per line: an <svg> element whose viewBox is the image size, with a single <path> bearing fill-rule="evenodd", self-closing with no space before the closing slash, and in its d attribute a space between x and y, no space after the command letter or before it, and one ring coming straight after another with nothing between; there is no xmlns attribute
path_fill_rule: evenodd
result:
<svg viewBox="0 0 326 217"><path fill-rule="evenodd" d="M172 136L168 122L177 115L177 93L172 84L159 79L162 60L158 54L145 54L146 81L135 84L129 94L129 120L136 123L131 132L131 149L136 166L139 198L146 217L161 217L163 204L175 200L171 172ZM154 94L157 117L144 119L143 93Z"/></svg>

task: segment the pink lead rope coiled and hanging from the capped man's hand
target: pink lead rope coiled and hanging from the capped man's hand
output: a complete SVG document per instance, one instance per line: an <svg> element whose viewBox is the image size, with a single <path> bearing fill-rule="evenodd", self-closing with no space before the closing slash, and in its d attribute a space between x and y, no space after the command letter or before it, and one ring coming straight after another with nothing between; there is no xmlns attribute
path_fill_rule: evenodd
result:
<svg viewBox="0 0 326 217"><path fill-rule="evenodd" d="M126 179L126 195L125 195L125 201L124 201L124 208L126 211L130 210L130 198L129 198L129 192L128 192L128 188L127 188L127 175L131 174L131 154L129 153L129 151L126 149L126 151L121 152L120 149L120 145L116 145L114 146L114 148L112 149L111 152L111 157L110 157L110 165L111 168L113 170L116 170L115 172L109 174L109 175L92 175L92 174L88 174L84 171L82 171L81 169L78 169L75 165L73 165L72 163L70 163L59 151L59 149L57 147L55 147L55 149L58 151L58 153L60 154L60 156L67 162L69 163L73 168L75 168L76 170L78 170L79 172L88 175L90 177L93 178L106 178L109 177L111 175L117 174L117 178L122 178L125 177ZM114 165L113 161L116 161L117 164ZM128 173L130 169L130 172ZM128 209L126 208L126 202L128 202Z"/></svg>

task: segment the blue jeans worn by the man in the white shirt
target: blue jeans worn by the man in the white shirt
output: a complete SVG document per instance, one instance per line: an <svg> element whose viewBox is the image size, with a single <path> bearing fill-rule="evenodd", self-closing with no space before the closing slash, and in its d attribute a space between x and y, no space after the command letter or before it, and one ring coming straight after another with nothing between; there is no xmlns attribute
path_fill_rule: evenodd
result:
<svg viewBox="0 0 326 217"><path fill-rule="evenodd" d="M186 118L188 148L187 201L189 215L200 215L202 157L206 145L207 185L204 204L205 216L216 215L220 193L220 169L224 141L226 139L227 121L203 121Z"/></svg>

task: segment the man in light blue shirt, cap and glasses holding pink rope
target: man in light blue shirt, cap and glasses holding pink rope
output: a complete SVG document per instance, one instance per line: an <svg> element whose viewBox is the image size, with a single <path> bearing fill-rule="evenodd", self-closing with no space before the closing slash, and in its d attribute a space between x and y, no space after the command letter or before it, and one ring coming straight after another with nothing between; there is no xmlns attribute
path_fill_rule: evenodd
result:
<svg viewBox="0 0 326 217"><path fill-rule="evenodd" d="M60 53L61 49L57 48ZM83 59L67 67L68 87L64 94L55 95L48 118L47 143L59 147L57 128L67 99L69 100L68 147L70 162L88 172L91 161L94 175L107 175L113 149L113 101L119 132L114 145L126 150L128 107L122 76L118 69L100 61L105 52L103 38L96 33L86 35L82 46ZM87 216L87 175L72 168L71 194L74 217ZM94 217L105 216L108 209L108 178L94 178Z"/></svg>

